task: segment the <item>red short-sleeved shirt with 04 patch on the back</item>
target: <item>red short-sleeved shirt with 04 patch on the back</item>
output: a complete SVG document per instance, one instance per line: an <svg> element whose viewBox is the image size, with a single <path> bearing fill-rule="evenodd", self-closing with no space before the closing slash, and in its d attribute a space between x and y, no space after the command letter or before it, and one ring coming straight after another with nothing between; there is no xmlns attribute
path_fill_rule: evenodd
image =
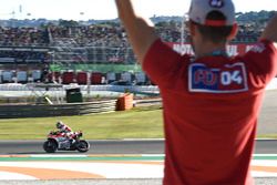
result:
<svg viewBox="0 0 277 185"><path fill-rule="evenodd" d="M243 56L194 61L157 40L143 69L163 97L164 185L253 185L249 163L277 50L263 41Z"/></svg>

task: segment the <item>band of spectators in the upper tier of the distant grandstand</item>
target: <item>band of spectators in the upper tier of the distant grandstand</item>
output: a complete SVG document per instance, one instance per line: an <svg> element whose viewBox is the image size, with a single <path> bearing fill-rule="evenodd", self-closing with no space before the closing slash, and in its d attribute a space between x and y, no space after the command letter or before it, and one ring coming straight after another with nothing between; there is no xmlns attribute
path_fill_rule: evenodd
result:
<svg viewBox="0 0 277 185"><path fill-rule="evenodd" d="M255 24L240 24L234 42L256 42L263 28ZM160 23L157 33L166 42L181 42L182 24ZM186 30L184 30L186 35ZM100 24L82 27L51 25L39 28L0 27L0 47L71 47L71 48L129 48L126 34L120 24Z"/></svg>

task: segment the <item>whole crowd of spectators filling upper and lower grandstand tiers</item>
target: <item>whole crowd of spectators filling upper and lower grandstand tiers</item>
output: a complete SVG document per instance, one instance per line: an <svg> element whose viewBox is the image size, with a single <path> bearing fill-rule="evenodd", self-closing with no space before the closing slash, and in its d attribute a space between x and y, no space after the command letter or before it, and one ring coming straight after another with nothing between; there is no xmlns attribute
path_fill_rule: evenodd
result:
<svg viewBox="0 0 277 185"><path fill-rule="evenodd" d="M233 42L256 42L265 25L240 23ZM156 23L157 33L166 42L181 42L186 39L186 29L181 22ZM182 31L184 34L182 34ZM182 37L184 35L184 37ZM187 42L187 40L183 40ZM0 58L17 60L50 60L47 52L6 51L3 48L44 47L53 50L53 60L76 62L134 63L134 54L127 42L124 29L119 22L92 25L44 28L4 28L0 27Z"/></svg>

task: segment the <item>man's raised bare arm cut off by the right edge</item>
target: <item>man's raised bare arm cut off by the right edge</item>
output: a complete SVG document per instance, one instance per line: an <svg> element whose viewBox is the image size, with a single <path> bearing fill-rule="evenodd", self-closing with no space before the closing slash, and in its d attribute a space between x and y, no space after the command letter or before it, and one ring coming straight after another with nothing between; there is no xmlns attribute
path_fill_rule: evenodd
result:
<svg viewBox="0 0 277 185"><path fill-rule="evenodd" d="M277 48L277 14L269 21L260 39L273 41Z"/></svg>

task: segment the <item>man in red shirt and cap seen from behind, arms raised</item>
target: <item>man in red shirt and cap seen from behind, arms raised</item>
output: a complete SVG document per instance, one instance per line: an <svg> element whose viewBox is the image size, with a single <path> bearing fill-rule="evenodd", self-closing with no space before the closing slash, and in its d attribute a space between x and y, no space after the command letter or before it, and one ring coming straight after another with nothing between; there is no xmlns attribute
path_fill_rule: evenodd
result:
<svg viewBox="0 0 277 185"><path fill-rule="evenodd" d="M249 163L266 85L277 74L277 17L245 55L230 58L236 35L232 0L192 0L188 29L195 56L174 52L115 0L144 71L158 85L165 130L164 185L254 185Z"/></svg>

